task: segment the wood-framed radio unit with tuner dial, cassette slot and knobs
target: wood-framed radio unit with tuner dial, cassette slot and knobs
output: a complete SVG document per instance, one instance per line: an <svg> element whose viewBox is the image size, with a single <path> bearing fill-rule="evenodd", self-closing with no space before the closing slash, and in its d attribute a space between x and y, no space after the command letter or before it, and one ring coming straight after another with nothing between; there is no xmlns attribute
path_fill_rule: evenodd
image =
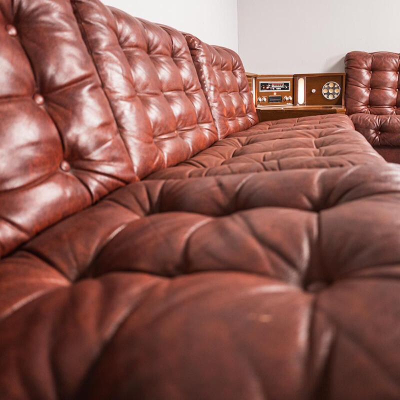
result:
<svg viewBox="0 0 400 400"><path fill-rule="evenodd" d="M255 78L255 105L292 105L293 75L258 75Z"/></svg>

